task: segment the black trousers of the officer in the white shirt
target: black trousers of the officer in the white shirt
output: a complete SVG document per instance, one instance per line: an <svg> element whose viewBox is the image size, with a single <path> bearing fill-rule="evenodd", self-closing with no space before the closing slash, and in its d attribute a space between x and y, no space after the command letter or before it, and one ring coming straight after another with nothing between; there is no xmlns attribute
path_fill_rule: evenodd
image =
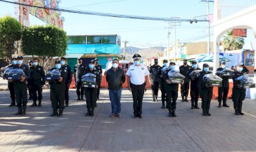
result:
<svg viewBox="0 0 256 152"><path fill-rule="evenodd" d="M142 114L142 100L145 91L145 83L142 85L133 85L131 83L131 93L133 94L133 114L139 116Z"/></svg>

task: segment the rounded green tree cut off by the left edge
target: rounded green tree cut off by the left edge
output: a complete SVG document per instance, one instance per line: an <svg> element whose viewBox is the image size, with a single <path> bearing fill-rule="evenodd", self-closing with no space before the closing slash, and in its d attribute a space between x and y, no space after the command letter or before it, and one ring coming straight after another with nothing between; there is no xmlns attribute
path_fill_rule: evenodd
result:
<svg viewBox="0 0 256 152"><path fill-rule="evenodd" d="M11 54L17 49L15 43L22 37L22 25L15 18L0 18L0 56L11 60Z"/></svg>

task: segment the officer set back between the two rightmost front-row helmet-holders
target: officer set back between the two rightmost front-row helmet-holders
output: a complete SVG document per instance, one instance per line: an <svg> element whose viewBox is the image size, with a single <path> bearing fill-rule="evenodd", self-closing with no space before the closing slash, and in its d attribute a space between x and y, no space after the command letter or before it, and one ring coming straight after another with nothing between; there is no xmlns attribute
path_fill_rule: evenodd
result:
<svg viewBox="0 0 256 152"><path fill-rule="evenodd" d="M226 69L226 63L222 61L221 67L218 68L217 71L222 71L224 69ZM228 89L229 89L228 79L230 79L230 76L221 75L218 73L216 75L222 78L222 87L218 87L218 102L219 102L218 108L221 108L222 106L228 108L229 106L226 104L226 100L228 98ZM222 99L223 99L223 104L222 104Z"/></svg>

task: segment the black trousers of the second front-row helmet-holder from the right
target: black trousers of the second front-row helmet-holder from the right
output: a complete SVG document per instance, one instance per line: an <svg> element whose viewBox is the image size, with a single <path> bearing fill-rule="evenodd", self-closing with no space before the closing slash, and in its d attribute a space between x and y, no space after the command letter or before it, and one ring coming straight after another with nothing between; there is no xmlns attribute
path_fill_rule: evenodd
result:
<svg viewBox="0 0 256 152"><path fill-rule="evenodd" d="M200 96L202 100L201 108L203 110L209 110L212 100L212 87L200 89Z"/></svg>

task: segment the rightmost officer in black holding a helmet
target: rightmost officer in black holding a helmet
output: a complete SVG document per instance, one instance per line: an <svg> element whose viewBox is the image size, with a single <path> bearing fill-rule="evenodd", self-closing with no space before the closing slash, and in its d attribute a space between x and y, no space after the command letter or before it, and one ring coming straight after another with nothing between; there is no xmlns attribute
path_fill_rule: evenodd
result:
<svg viewBox="0 0 256 152"><path fill-rule="evenodd" d="M243 100L245 100L245 92L246 89L241 85L241 82L236 80L236 78L244 75L242 73L243 71L243 65L239 64L236 67L237 71L234 71L232 75L232 79L234 82L233 89L232 89L232 101L234 102L234 114L236 115L243 115L244 113L242 112L242 105L243 105Z"/></svg>

